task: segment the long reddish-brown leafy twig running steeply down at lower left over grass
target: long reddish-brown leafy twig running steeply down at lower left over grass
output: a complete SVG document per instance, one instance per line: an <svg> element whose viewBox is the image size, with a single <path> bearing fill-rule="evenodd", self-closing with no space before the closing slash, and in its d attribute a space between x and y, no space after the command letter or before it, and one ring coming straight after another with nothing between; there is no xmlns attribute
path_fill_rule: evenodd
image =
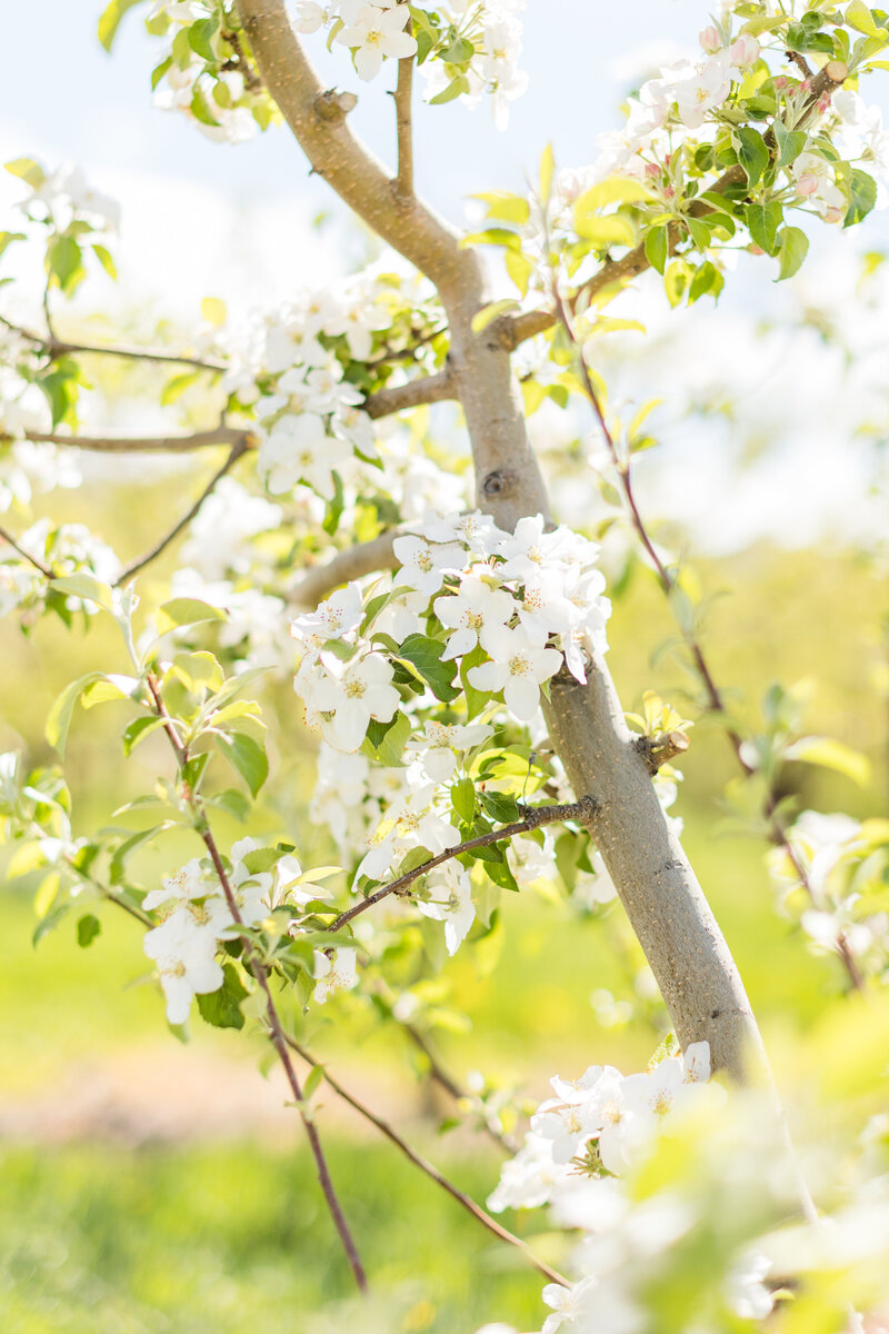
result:
<svg viewBox="0 0 889 1334"><path fill-rule="evenodd" d="M148 686L148 692L151 695L153 712L164 723L164 731L167 732L167 739L169 740L172 751L176 756L176 763L179 764L181 772L184 764L187 763L188 752L185 747L180 744L176 736L176 730L172 724L169 714L167 712L167 707L161 698L156 678L149 672L148 676L145 678L145 682ZM223 864L219 847L216 846L216 839L213 838L213 832L209 827L204 803L195 794L189 794L189 803L195 815L197 816L199 820L197 832L200 834L204 847L209 852L213 868L216 870L216 875L223 887L223 894L225 895L228 910L232 914L232 920L237 926L243 927L244 919L237 907L237 900L232 891L228 872L225 871L225 866ZM312 1121L312 1117L308 1114L305 1103L303 1101L303 1089L300 1087L300 1081L296 1075L296 1070L293 1069L293 1062L291 1061L291 1054L288 1051L288 1039L281 1026L277 1009L275 1006L275 998L272 996L272 987L269 984L268 972L265 970L265 966L263 964L263 960L259 958L251 938L248 935L241 935L240 939L244 946L244 958L248 963L248 967L265 995L265 1014L268 1019L269 1039L284 1067L284 1074L287 1075L287 1082L291 1086L291 1093L293 1094L296 1109L300 1114L303 1126L305 1127L305 1134L308 1135L309 1146L312 1149L312 1155L315 1158L315 1166L317 1170L321 1190L324 1193L324 1199L331 1213L331 1218L333 1219L333 1225L340 1235L340 1241L343 1242L343 1249L349 1262L352 1274L355 1275L355 1281L359 1286L359 1290L361 1293L365 1293L368 1289L368 1281L364 1273L364 1267L359 1258L359 1253L356 1250L352 1233L349 1231L349 1226L340 1207L340 1201L336 1195L336 1190L333 1189L333 1182L331 1181L331 1173L328 1170L327 1158L324 1157L324 1149L321 1146L321 1139L319 1137L317 1127Z"/></svg>

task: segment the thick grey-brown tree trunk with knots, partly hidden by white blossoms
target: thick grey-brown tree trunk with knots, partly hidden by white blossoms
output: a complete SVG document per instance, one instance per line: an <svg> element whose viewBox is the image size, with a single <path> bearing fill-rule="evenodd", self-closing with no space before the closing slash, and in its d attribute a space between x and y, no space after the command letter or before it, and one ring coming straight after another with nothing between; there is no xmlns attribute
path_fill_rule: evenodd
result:
<svg viewBox="0 0 889 1334"><path fill-rule="evenodd" d="M449 388L466 416L478 507L508 528L522 515L549 518L512 371L513 340L494 325L472 329L486 299L477 256L416 199L399 196L345 116L317 113L325 95L281 0L239 0L239 11L260 73L313 168L439 288L450 328ZM586 686L556 678L546 716L577 798L596 800L593 838L680 1042L709 1042L713 1067L744 1079L750 1058L758 1065L761 1055L756 1021L716 918L669 832L605 663L592 664Z"/></svg>

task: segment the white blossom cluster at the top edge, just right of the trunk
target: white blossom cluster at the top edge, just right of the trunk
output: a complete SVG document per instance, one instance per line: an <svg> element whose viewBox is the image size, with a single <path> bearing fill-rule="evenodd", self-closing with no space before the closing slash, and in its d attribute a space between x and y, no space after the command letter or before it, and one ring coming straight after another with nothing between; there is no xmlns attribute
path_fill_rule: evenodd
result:
<svg viewBox="0 0 889 1334"><path fill-rule="evenodd" d="M449 0L416 7L412 31L411 8L403 0L299 0L293 25L297 32L329 29L328 41L352 53L356 73L369 81L385 60L417 56L427 76L427 100L461 97L476 105L489 93L494 120L505 128L508 104L528 87L518 69L524 0Z"/></svg>

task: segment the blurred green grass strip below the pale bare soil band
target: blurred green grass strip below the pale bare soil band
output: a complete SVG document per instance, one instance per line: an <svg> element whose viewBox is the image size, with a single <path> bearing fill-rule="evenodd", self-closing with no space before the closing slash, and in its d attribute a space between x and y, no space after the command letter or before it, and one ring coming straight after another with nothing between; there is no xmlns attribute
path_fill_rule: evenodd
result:
<svg viewBox="0 0 889 1334"><path fill-rule="evenodd" d="M544 1279L395 1151L331 1159L377 1298L356 1330L538 1327ZM0 1171L4 1334L315 1334L353 1297L304 1149L21 1149ZM490 1189L490 1167L453 1171Z"/></svg>

